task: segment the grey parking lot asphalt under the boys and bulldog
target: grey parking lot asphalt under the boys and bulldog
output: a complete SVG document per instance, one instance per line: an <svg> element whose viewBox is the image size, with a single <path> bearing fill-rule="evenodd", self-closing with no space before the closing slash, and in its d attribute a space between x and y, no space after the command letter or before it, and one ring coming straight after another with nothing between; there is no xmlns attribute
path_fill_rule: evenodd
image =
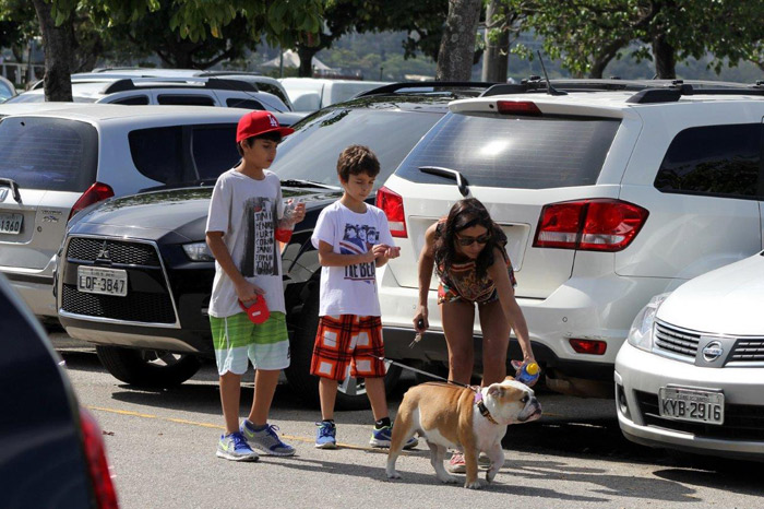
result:
<svg viewBox="0 0 764 509"><path fill-rule="evenodd" d="M141 390L114 379L92 347L55 338L77 398L100 423L123 508L188 507L756 507L757 464L691 457L626 441L612 400L582 400L545 390L541 419L511 426L506 462L479 492L441 485L421 443L384 474L386 451L368 446L371 412L337 412L334 451L313 448L317 409L287 384L271 422L295 445L295 458L237 464L215 457L223 429L213 364L168 390ZM251 372L249 374L251 375ZM249 377L251 380L251 376ZM394 411L414 383L389 395ZM244 383L242 415L252 398Z"/></svg>

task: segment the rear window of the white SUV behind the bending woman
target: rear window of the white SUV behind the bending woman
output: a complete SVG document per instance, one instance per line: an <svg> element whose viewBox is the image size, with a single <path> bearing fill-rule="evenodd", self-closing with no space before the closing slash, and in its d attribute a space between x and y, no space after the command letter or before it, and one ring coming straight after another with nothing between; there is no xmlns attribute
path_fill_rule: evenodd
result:
<svg viewBox="0 0 764 509"><path fill-rule="evenodd" d="M453 185L421 166L459 171L471 186L549 189L596 184L619 120L449 114L417 144L395 175Z"/></svg>

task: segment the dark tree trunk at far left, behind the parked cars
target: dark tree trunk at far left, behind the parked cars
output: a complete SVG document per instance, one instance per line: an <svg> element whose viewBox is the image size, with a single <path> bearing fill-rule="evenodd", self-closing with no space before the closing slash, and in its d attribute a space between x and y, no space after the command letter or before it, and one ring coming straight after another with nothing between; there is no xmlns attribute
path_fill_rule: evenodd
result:
<svg viewBox="0 0 764 509"><path fill-rule="evenodd" d="M56 26L46 0L32 0L37 11L45 50L45 100L72 102L72 47L73 25L71 16ZM29 62L32 64L32 62Z"/></svg>

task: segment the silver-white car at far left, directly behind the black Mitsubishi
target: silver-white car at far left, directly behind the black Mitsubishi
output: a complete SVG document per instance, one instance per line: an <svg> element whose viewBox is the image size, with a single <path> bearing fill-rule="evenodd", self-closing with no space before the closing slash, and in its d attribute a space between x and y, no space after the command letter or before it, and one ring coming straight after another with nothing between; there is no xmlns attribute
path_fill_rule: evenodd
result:
<svg viewBox="0 0 764 509"><path fill-rule="evenodd" d="M70 104L4 117L0 272L35 315L55 319L55 256L68 220L114 196L214 181L239 161L236 126L247 111Z"/></svg>

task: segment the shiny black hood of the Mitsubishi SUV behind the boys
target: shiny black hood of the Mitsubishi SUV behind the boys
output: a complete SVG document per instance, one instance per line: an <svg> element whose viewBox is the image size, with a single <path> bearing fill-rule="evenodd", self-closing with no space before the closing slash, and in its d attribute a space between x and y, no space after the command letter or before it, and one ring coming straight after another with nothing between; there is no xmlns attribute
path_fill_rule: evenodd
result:
<svg viewBox="0 0 764 509"><path fill-rule="evenodd" d="M70 232L158 238L168 232L203 240L212 187L143 192L110 199L88 211ZM335 201L339 192L283 188L284 198L301 198L308 211Z"/></svg>

